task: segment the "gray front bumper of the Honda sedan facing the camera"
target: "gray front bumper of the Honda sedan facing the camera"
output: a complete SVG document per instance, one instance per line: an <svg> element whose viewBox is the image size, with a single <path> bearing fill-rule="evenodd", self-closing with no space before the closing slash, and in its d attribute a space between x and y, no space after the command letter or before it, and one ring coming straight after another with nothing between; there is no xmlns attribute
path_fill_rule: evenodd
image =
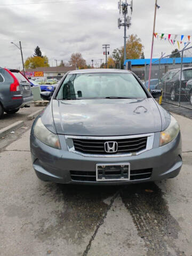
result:
<svg viewBox="0 0 192 256"><path fill-rule="evenodd" d="M159 141L159 133L155 134L156 141ZM161 181L175 177L179 174L182 166L181 158L181 134L169 144L154 148L131 157L84 157L79 154L69 152L65 142L65 137L59 135L61 150L53 149L39 141L32 133L30 135L30 149L33 167L39 179L43 181L53 181L57 183L74 184L99 184L116 185L130 184L149 181ZM157 143L156 143L157 144ZM96 164L117 164L119 162L129 162L131 172L142 169L152 169L150 177L147 179L134 179L130 181L77 181L71 179L71 171L95 172Z"/></svg>

